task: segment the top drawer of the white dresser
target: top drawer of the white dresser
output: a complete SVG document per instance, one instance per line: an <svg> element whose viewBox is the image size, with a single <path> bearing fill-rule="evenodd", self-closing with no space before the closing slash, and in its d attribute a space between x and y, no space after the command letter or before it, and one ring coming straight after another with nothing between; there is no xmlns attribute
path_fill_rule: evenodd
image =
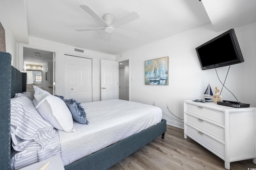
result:
<svg viewBox="0 0 256 170"><path fill-rule="evenodd" d="M186 111L224 125L224 113L205 107L186 104Z"/></svg>

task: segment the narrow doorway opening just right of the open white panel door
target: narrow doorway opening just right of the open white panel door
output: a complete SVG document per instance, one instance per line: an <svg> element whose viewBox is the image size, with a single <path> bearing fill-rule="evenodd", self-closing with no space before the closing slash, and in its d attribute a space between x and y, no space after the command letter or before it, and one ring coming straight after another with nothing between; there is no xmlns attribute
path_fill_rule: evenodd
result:
<svg viewBox="0 0 256 170"><path fill-rule="evenodd" d="M129 101L129 60L119 62L119 99Z"/></svg>

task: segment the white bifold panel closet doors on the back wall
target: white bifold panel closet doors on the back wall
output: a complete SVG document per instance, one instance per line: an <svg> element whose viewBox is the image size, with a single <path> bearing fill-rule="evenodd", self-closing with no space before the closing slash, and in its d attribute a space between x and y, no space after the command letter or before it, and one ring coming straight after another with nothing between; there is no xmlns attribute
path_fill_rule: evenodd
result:
<svg viewBox="0 0 256 170"><path fill-rule="evenodd" d="M65 99L92 102L92 59L64 55Z"/></svg>

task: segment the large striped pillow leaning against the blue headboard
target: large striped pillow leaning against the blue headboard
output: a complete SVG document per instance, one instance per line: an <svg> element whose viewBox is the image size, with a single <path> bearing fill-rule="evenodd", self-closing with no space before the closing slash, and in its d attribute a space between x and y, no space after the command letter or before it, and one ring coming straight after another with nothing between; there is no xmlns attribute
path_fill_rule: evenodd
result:
<svg viewBox="0 0 256 170"><path fill-rule="evenodd" d="M54 127L45 121L26 96L11 99L12 147L17 151L42 149L53 137Z"/></svg>

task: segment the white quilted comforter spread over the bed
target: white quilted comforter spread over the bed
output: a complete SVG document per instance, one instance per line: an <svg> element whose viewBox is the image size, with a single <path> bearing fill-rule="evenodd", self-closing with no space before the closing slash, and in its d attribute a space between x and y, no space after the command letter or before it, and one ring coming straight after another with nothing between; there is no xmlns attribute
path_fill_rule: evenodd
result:
<svg viewBox="0 0 256 170"><path fill-rule="evenodd" d="M74 122L76 132L59 131L64 166L156 125L162 119L159 107L125 100L105 100L81 105L89 124Z"/></svg>

